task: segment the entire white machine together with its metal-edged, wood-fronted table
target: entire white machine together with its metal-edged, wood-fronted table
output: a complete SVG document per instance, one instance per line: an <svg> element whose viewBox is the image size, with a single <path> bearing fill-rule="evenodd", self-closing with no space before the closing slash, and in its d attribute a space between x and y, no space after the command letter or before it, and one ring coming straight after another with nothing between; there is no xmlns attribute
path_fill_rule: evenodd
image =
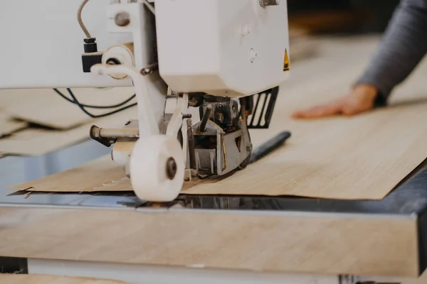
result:
<svg viewBox="0 0 427 284"><path fill-rule="evenodd" d="M425 270L426 163L381 201L179 195L185 180L243 169L289 137L253 149L248 131L268 127L289 76L286 1L0 8L0 32L13 43L0 48L1 88L134 86L138 101L122 129L88 129L114 146L136 196L2 192L0 272L367 284L406 283Z"/></svg>

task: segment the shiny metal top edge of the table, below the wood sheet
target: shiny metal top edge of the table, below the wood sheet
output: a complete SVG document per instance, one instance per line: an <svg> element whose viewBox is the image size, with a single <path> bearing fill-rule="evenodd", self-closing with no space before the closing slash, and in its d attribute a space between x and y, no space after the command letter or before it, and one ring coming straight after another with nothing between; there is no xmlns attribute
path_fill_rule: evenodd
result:
<svg viewBox="0 0 427 284"><path fill-rule="evenodd" d="M175 202L153 204L138 200L132 192L54 194L0 190L0 204L60 205L82 207L170 207L188 209L269 210L323 213L418 214L427 209L427 161L408 175L383 200L320 200L301 197L180 195Z"/></svg>

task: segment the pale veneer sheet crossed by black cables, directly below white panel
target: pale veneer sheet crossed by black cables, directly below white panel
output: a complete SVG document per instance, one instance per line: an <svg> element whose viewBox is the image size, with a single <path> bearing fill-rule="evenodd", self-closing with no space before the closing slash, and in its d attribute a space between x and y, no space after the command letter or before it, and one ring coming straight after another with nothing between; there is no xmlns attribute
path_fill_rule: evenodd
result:
<svg viewBox="0 0 427 284"><path fill-rule="evenodd" d="M59 89L70 98L66 89ZM105 106L125 101L134 94L132 87L110 89L75 88L75 97L82 104ZM135 103L132 99L125 105ZM125 106L124 105L124 106ZM93 120L81 109L60 97L53 89L3 89L0 90L1 109L10 116L53 129L70 129ZM93 114L103 114L108 109L88 109Z"/></svg>

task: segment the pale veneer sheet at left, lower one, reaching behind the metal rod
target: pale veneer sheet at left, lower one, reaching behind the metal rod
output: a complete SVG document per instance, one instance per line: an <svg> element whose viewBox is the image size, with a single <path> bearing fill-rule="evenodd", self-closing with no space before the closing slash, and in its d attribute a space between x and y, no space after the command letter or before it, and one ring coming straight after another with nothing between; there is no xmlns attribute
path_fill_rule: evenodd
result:
<svg viewBox="0 0 427 284"><path fill-rule="evenodd" d="M0 152L11 155L43 155L71 146L89 138L90 126L122 127L127 120L137 118L137 108L132 107L120 113L106 116L101 119L92 119L67 131L56 129L24 129L11 136L0 139Z"/></svg>

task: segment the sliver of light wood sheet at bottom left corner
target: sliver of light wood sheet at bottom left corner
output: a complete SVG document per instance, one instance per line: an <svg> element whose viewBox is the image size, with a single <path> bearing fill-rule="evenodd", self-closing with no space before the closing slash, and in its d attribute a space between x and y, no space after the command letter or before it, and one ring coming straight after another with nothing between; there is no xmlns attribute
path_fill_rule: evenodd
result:
<svg viewBox="0 0 427 284"><path fill-rule="evenodd" d="M38 274L0 274L1 284L125 284L117 280Z"/></svg>

